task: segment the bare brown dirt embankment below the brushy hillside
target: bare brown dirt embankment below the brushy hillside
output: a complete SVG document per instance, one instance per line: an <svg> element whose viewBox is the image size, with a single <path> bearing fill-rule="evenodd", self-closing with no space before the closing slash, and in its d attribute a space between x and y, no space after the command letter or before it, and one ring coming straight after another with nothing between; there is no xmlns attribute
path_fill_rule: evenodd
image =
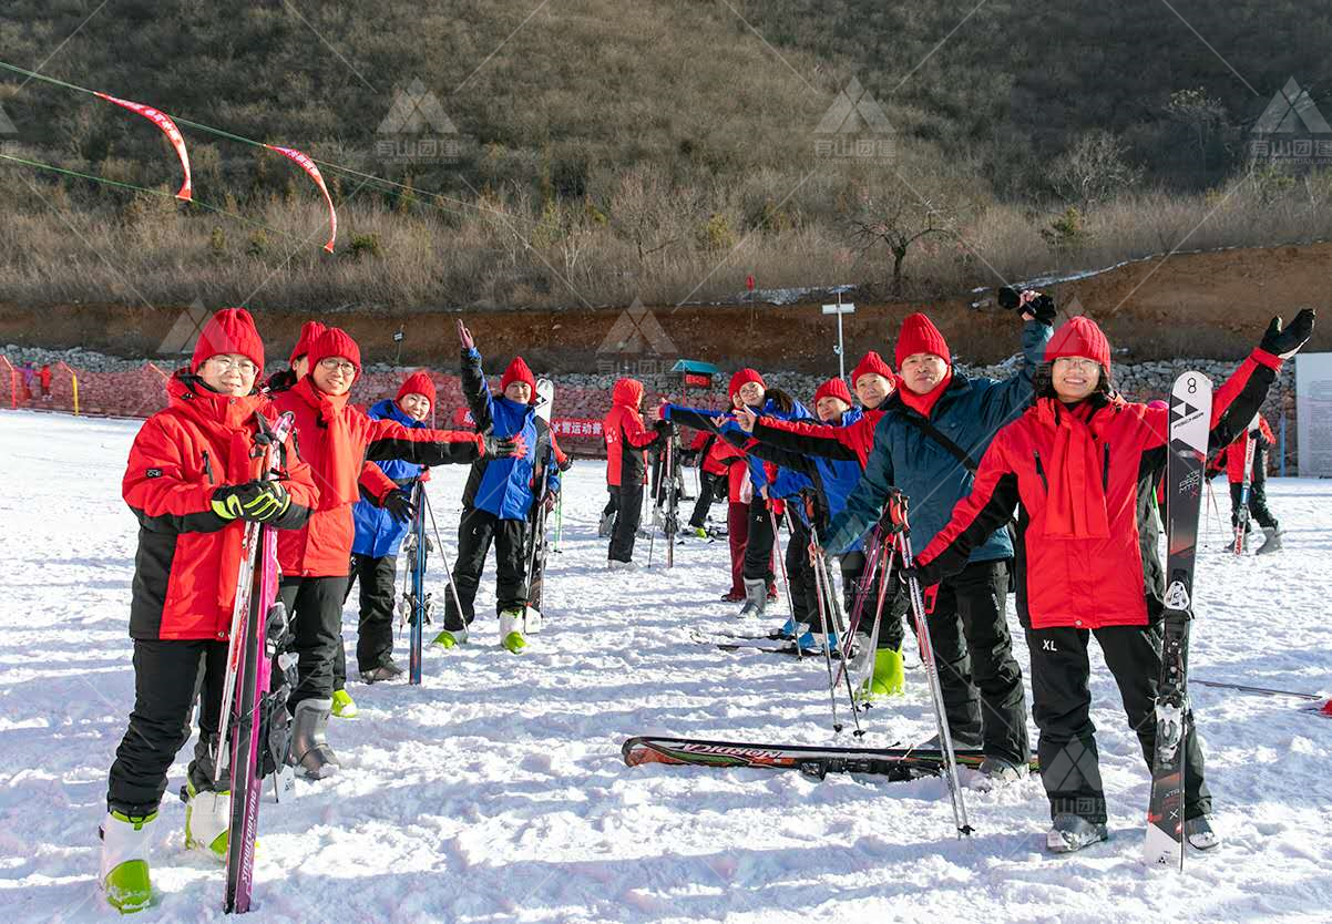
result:
<svg viewBox="0 0 1332 924"><path fill-rule="evenodd" d="M1151 257L1050 288L1060 306L1074 305L1076 300L1086 314L1100 322L1123 358L1143 361L1176 355L1239 358L1257 344L1273 314L1289 317L1305 306L1327 309L1329 284L1332 244L1312 244L1184 253L1168 260ZM1014 318L992 304L971 308L978 297L858 304L855 314L843 317L847 366L866 350L886 350L902 318L916 310L931 314L963 361L1003 359L1016 350ZM173 336L173 326L186 310L184 305L28 306L0 302L0 344L48 349L79 346L125 357L152 357L161 351L164 341L180 340L180 328ZM653 308L650 318L630 318L645 334L637 344L630 338L630 347L638 347L630 353L615 351L619 334L633 333L633 328L626 329L622 314L622 308L579 308L468 312L465 317L493 359L522 353L534 367L553 373L609 371L615 361L673 359L677 355L715 362L723 369L742 363L809 373L835 369L836 322L821 313L818 302ZM264 310L256 316L265 340L274 350L284 351L296 341L305 320ZM452 363L456 355L456 317L462 313L441 310L384 317L344 312L329 313L321 320L356 337L366 362L397 358L398 344L393 336L401 325L406 332L401 344L402 363L437 365ZM665 340L658 336L653 320ZM1332 318L1324 313L1324 324L1309 349L1332 349L1329 321ZM613 328L617 336L607 344Z"/></svg>

